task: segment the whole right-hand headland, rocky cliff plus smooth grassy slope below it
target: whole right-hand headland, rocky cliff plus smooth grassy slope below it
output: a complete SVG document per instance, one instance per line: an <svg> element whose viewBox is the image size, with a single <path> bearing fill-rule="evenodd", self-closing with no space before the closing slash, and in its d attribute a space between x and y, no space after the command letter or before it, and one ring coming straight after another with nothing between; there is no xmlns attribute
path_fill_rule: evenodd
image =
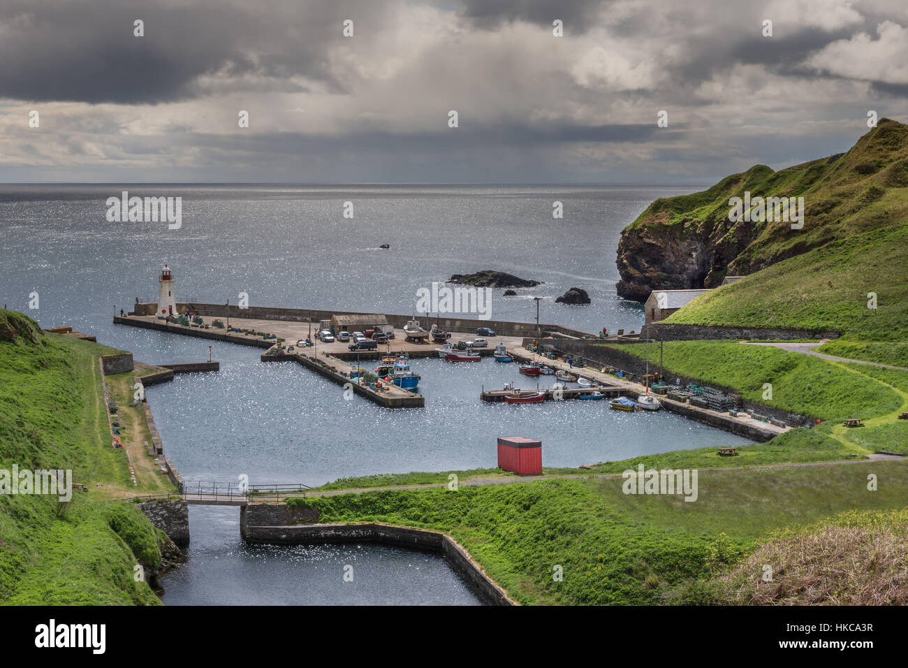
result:
<svg viewBox="0 0 908 668"><path fill-rule="evenodd" d="M729 221L729 199L804 197L804 227ZM908 126L889 119L845 154L650 204L618 246L618 293L716 287L669 322L835 327L854 339L908 338ZM877 295L870 309L868 293Z"/></svg>

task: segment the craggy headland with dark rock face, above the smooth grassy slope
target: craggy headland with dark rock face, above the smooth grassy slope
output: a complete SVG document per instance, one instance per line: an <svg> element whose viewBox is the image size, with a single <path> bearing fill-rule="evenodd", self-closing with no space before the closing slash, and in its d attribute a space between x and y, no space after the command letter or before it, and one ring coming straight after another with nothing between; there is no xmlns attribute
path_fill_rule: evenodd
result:
<svg viewBox="0 0 908 668"><path fill-rule="evenodd" d="M908 126L889 119L847 154L774 172L733 174L702 193L658 199L621 233L617 294L646 301L653 290L716 287L726 274L753 274L868 227L900 222L908 185ZM804 226L785 220L729 219L732 197L804 197ZM887 197L887 195L891 195ZM752 216L759 217L759 216Z"/></svg>

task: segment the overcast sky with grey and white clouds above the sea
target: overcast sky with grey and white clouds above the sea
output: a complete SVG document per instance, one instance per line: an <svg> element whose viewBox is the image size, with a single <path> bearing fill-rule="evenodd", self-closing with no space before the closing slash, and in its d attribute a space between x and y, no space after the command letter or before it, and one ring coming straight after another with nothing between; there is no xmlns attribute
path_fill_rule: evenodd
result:
<svg viewBox="0 0 908 668"><path fill-rule="evenodd" d="M906 102L906 0L0 0L3 182L712 182Z"/></svg>

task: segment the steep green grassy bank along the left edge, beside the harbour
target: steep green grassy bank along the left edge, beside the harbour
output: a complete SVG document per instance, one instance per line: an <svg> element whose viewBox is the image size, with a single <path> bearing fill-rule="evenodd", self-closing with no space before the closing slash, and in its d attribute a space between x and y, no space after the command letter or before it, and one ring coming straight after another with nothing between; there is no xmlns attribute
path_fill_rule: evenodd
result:
<svg viewBox="0 0 908 668"><path fill-rule="evenodd" d="M129 484L104 406L98 355L109 352L0 310L0 469L72 469L89 490L69 503L0 494L2 603L158 603L133 568L160 565L163 533L131 503L100 503Z"/></svg>

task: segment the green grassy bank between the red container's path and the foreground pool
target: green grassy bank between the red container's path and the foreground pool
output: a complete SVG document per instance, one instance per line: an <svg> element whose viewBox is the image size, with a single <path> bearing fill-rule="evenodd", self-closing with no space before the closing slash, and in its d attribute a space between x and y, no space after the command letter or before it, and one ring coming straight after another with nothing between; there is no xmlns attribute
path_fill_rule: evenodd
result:
<svg viewBox="0 0 908 668"><path fill-rule="evenodd" d="M877 474L879 490L866 488ZM320 522L449 533L520 603L673 601L754 553L771 534L851 510L903 509L908 463L701 471L696 502L623 494L617 479L397 490L294 499ZM563 580L553 579L555 568Z"/></svg>

